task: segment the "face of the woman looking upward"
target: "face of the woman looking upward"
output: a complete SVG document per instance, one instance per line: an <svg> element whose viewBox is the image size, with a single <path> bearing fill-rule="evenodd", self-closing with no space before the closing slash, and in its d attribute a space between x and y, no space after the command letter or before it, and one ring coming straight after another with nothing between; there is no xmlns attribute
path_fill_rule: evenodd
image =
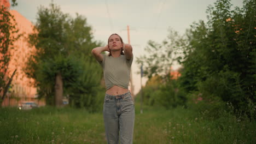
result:
<svg viewBox="0 0 256 144"><path fill-rule="evenodd" d="M123 47L123 43L118 35L111 35L108 41L109 49L112 51L119 51Z"/></svg>

